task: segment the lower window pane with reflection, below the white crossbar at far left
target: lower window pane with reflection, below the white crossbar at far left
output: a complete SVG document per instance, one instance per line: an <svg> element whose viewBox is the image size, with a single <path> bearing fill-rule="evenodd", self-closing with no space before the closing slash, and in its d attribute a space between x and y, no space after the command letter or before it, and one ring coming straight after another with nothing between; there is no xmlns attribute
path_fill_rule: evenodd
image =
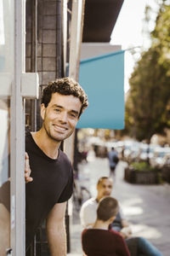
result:
<svg viewBox="0 0 170 256"><path fill-rule="evenodd" d="M0 255L6 255L10 234L9 101L0 99Z"/></svg>

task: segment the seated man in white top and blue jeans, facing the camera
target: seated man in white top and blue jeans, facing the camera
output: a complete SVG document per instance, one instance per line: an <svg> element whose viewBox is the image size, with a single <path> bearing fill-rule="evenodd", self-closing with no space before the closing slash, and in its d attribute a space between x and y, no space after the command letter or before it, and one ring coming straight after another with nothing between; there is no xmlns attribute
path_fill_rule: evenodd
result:
<svg viewBox="0 0 170 256"><path fill-rule="evenodd" d="M85 201L80 211L80 219L83 228L93 227L97 218L97 208L99 201L105 196L111 196L113 181L111 177L100 177L97 183L97 197ZM110 228L118 231L125 239L131 256L162 256L150 241L143 237L132 237L132 230L121 209L116 214L116 218L111 223Z"/></svg>

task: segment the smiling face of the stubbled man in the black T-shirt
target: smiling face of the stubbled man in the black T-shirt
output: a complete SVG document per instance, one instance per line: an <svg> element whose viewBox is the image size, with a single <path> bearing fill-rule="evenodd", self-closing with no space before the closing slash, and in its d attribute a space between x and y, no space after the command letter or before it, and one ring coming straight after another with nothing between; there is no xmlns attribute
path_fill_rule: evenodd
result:
<svg viewBox="0 0 170 256"><path fill-rule="evenodd" d="M48 107L41 106L43 128L48 137L61 142L70 137L77 125L82 107L80 100L72 95L65 96L55 92L52 94Z"/></svg>

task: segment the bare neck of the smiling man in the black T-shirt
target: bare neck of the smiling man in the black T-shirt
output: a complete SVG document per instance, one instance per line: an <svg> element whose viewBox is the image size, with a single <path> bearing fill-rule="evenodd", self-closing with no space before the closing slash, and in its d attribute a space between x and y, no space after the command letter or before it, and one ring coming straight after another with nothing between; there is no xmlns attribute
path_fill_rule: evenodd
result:
<svg viewBox="0 0 170 256"><path fill-rule="evenodd" d="M55 142L53 139L48 137L47 133L43 129L31 132L31 136L37 146L42 149L44 154L48 155L48 157L52 159L57 159L60 142Z"/></svg>

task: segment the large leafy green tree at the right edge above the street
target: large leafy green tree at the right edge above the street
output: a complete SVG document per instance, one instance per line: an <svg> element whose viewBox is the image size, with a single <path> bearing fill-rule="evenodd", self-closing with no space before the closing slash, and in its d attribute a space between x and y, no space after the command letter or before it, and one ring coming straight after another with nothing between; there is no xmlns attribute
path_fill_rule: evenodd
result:
<svg viewBox="0 0 170 256"><path fill-rule="evenodd" d="M129 79L125 111L125 131L148 142L170 127L170 5L161 4L151 37Z"/></svg>

